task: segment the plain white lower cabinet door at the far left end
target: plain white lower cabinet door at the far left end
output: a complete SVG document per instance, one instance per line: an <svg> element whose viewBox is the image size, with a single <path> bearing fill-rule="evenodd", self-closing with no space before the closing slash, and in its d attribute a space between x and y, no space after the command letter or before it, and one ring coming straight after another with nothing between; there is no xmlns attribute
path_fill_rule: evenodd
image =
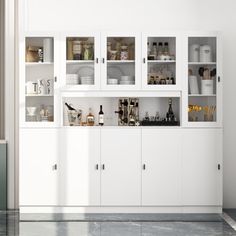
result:
<svg viewBox="0 0 236 236"><path fill-rule="evenodd" d="M20 205L57 205L58 129L20 130Z"/></svg>

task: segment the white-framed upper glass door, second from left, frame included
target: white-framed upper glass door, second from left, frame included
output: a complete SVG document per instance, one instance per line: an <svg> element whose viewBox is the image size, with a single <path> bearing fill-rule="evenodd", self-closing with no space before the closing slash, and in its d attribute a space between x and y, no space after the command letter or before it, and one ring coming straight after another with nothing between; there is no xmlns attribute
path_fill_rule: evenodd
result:
<svg viewBox="0 0 236 236"><path fill-rule="evenodd" d="M63 36L62 88L94 90L100 88L100 35L69 33Z"/></svg>

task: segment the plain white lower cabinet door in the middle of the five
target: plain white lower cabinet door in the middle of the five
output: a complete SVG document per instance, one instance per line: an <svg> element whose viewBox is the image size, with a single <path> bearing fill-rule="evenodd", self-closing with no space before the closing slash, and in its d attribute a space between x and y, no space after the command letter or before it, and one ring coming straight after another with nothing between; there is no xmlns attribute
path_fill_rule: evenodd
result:
<svg viewBox="0 0 236 236"><path fill-rule="evenodd" d="M101 130L101 205L141 204L141 130Z"/></svg>

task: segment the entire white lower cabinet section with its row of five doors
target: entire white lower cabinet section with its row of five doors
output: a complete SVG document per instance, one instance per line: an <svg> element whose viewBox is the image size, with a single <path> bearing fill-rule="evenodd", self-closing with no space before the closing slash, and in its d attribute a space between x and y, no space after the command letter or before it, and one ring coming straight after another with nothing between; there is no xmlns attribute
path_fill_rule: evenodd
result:
<svg viewBox="0 0 236 236"><path fill-rule="evenodd" d="M221 206L222 130L20 130L20 206Z"/></svg>

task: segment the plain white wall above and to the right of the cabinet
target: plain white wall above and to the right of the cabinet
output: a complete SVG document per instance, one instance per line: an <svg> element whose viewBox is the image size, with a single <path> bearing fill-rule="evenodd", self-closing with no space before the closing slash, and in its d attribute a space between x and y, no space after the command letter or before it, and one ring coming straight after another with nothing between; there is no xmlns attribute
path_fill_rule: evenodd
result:
<svg viewBox="0 0 236 236"><path fill-rule="evenodd" d="M23 6L23 0L19 0ZM22 2L21 2L22 1ZM220 30L224 73L224 207L236 208L235 0L25 0L25 29Z"/></svg>

